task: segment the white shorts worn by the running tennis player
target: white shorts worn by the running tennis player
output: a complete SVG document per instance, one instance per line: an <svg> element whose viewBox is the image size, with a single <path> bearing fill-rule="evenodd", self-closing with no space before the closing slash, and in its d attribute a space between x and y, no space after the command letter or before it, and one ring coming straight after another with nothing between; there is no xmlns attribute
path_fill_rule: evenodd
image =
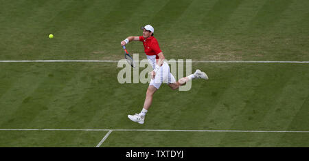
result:
<svg viewBox="0 0 309 161"><path fill-rule="evenodd" d="M159 89L162 83L176 83L175 77L170 73L170 66L165 61L157 71L155 79L151 79L149 85Z"/></svg>

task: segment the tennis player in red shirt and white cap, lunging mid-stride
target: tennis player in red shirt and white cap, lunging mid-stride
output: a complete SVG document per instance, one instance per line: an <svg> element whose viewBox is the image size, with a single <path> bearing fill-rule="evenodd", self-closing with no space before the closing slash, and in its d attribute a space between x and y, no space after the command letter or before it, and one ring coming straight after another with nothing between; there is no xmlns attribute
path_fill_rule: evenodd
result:
<svg viewBox="0 0 309 161"><path fill-rule="evenodd" d="M145 25L141 28L141 30L143 30L143 36L128 36L128 38L121 42L121 45L126 45L131 41L142 41L148 62L153 68L153 71L150 72L151 81L146 92L143 109L141 109L139 114L128 115L130 120L138 122L139 124L144 124L146 113L152 103L152 97L162 83L167 83L172 89L178 89L179 86L185 85L185 83L192 79L203 78L208 80L208 76L205 72L201 72L201 70L196 69L194 74L176 81L174 76L170 73L168 63L164 61L165 57L163 52L160 50L157 39L153 36L155 31L154 28L152 28L151 25Z"/></svg>

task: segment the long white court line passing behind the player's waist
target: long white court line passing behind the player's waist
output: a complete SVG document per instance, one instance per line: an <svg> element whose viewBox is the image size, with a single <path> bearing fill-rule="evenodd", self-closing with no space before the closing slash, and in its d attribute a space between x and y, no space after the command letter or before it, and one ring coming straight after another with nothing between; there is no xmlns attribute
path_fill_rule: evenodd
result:
<svg viewBox="0 0 309 161"><path fill-rule="evenodd" d="M119 60L119 61L123 61ZM0 63L65 63L65 62L98 62L98 63L117 63L119 61L108 60L33 60L33 61L0 61ZM185 60L183 60L185 61ZM182 62L183 62L182 61ZM135 61L137 62L137 61ZM138 61L141 62L141 61ZM176 61L179 62L179 61ZM309 61L192 61L192 63L309 63Z"/></svg>

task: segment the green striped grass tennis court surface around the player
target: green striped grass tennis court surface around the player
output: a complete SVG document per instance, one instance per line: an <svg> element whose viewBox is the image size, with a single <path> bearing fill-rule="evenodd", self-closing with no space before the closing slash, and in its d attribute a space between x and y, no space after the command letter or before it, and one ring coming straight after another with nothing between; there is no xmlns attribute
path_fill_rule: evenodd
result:
<svg viewBox="0 0 309 161"><path fill-rule="evenodd" d="M0 147L95 147L108 129L100 147L309 147L307 0L0 3ZM3 62L118 61L120 41L146 24L168 60L307 63L192 63L209 81L161 85L139 125L127 115L148 83L118 83L115 62ZM140 42L126 47L146 58Z"/></svg>

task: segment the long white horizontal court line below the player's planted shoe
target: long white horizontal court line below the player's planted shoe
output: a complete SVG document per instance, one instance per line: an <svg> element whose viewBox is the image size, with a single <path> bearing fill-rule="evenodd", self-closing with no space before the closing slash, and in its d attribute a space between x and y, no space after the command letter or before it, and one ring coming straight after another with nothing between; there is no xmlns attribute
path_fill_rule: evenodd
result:
<svg viewBox="0 0 309 161"><path fill-rule="evenodd" d="M109 131L180 131L180 132L242 132L242 133L309 133L309 131L198 130L198 129L196 130L185 130L185 129L0 129L0 131L108 131L108 132Z"/></svg>

